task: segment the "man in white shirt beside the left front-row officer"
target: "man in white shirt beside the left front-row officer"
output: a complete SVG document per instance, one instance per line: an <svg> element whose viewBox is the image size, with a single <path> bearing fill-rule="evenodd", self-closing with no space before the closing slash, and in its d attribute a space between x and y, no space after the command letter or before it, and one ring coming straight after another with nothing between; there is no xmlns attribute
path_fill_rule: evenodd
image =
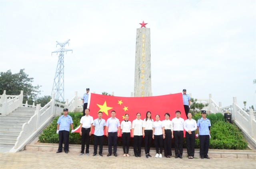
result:
<svg viewBox="0 0 256 169"><path fill-rule="evenodd" d="M81 154L84 155L84 145L86 143L85 153L89 155L89 143L90 136L92 135L92 123L93 118L89 115L90 109L85 109L85 116L83 116L80 120L80 135L82 136L82 146L81 146Z"/></svg>

